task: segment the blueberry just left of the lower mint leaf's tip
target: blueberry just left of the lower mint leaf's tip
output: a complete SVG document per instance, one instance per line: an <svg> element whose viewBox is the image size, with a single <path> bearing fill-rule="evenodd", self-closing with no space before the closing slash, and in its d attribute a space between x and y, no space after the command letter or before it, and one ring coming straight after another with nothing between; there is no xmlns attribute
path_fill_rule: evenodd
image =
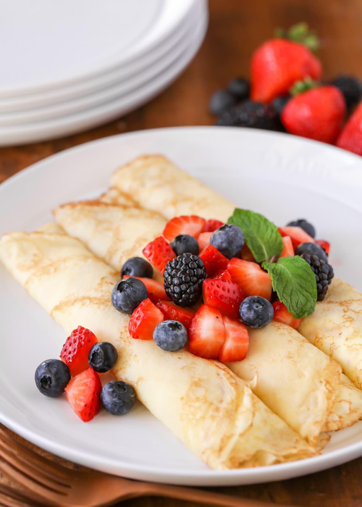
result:
<svg viewBox="0 0 362 507"><path fill-rule="evenodd" d="M249 296L240 303L239 315L248 328L264 328L274 316L274 308L270 301L261 296Z"/></svg>

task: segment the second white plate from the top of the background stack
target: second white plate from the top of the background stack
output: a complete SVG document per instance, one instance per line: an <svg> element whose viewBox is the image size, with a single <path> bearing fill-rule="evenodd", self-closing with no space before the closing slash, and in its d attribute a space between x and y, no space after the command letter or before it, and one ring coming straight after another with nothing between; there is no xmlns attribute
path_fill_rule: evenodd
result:
<svg viewBox="0 0 362 507"><path fill-rule="evenodd" d="M188 0L188 10L180 19L177 26L173 28L168 37L161 39L155 47L132 59L127 64L119 65L114 69L97 74L88 79L78 81L60 88L43 90L38 93L31 93L17 97L3 98L0 95L0 113L13 113L16 111L31 110L35 107L58 104L59 102L77 99L84 95L101 92L104 88L117 85L127 81L134 74L139 74L146 67L161 59L179 39L180 31L185 32L185 26L196 22L202 13L207 10L207 0ZM185 8L185 5L184 5ZM165 11L168 14L169 10ZM170 14L170 13L169 13ZM166 21L164 22L166 24Z"/></svg>

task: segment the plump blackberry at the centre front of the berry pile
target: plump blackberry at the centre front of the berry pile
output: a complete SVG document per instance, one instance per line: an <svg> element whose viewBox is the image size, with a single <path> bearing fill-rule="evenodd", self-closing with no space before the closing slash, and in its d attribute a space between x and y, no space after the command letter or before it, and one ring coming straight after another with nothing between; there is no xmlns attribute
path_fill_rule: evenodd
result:
<svg viewBox="0 0 362 507"><path fill-rule="evenodd" d="M206 278L204 263L192 253L168 261L163 273L166 294L178 306L192 306L200 298Z"/></svg>

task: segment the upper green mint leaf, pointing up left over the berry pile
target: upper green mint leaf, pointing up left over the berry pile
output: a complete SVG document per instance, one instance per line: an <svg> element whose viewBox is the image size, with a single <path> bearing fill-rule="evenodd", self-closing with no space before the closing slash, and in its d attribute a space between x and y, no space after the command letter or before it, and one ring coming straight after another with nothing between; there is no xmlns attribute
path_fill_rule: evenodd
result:
<svg viewBox="0 0 362 507"><path fill-rule="evenodd" d="M247 246L257 262L270 261L279 256L283 242L276 226L260 213L235 208L228 224L240 227Z"/></svg>

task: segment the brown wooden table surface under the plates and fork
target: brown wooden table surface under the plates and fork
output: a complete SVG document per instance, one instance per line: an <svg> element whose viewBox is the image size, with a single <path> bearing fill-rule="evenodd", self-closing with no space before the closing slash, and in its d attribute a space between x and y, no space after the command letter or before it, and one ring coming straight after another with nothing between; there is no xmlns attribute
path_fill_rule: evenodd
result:
<svg viewBox="0 0 362 507"><path fill-rule="evenodd" d="M246 76L250 54L275 26L307 21L321 39L324 77L362 78L361 0L210 0L210 23L196 58L166 91L137 111L67 138L0 149L0 182L24 167L76 144L121 132L179 125L212 125L210 94L234 76ZM362 458L318 474L255 486L220 488L229 494L311 507L360 507ZM0 480L7 482L5 477ZM162 498L140 498L124 507L196 507Z"/></svg>

